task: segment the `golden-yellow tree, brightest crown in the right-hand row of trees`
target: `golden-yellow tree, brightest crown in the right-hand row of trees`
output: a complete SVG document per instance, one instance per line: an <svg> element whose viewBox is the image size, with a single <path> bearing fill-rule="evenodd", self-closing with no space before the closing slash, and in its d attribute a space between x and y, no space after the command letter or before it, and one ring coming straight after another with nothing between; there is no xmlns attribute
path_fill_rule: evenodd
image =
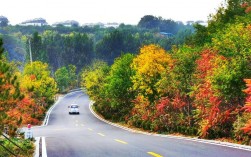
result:
<svg viewBox="0 0 251 157"><path fill-rule="evenodd" d="M133 90L154 102L159 97L156 83L162 73L167 73L173 66L171 55L160 46L151 44L140 49L140 54L133 60Z"/></svg>

